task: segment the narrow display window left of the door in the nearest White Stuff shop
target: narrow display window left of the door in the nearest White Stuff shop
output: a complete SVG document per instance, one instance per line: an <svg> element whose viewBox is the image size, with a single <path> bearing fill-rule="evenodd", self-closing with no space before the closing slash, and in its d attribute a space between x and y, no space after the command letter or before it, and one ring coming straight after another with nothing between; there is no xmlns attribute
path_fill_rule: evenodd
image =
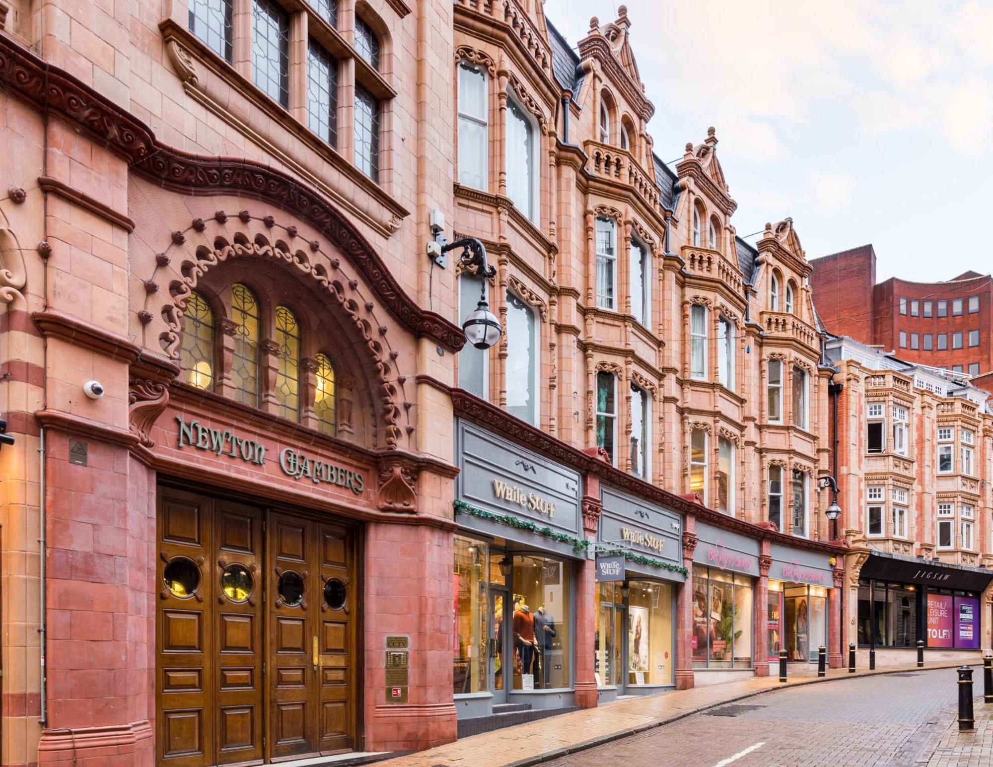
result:
<svg viewBox="0 0 993 767"><path fill-rule="evenodd" d="M487 675L487 622L489 620L489 546L479 540L455 537L455 639L453 691L484 692Z"/></svg>

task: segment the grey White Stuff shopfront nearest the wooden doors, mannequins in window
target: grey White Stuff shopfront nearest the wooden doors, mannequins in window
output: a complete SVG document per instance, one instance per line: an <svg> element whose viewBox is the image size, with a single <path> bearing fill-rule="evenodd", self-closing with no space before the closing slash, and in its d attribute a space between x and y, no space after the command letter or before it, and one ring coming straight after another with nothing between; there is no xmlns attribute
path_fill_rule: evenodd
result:
<svg viewBox="0 0 993 767"><path fill-rule="evenodd" d="M573 704L580 475L456 420L453 693L459 718Z"/></svg>

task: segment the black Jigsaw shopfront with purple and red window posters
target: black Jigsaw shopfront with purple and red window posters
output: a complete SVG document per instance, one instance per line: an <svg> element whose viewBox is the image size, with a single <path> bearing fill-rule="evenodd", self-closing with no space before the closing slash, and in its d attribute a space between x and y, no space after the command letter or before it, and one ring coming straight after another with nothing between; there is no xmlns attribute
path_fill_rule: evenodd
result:
<svg viewBox="0 0 993 767"><path fill-rule="evenodd" d="M859 645L912 649L920 639L931 650L978 650L991 577L982 567L872 552L859 577Z"/></svg>

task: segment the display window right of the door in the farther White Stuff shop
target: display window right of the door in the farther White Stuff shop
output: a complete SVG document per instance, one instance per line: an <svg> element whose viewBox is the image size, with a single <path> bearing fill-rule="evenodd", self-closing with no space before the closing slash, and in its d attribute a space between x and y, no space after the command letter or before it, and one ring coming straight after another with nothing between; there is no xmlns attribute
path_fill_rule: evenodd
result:
<svg viewBox="0 0 993 767"><path fill-rule="evenodd" d="M672 586L633 580L628 596L628 684L671 685Z"/></svg>

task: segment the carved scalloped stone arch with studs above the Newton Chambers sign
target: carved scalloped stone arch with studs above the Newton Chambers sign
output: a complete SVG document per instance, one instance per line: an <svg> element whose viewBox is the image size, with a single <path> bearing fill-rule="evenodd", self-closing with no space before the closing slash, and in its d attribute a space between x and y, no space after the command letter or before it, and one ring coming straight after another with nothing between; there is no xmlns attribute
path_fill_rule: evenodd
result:
<svg viewBox="0 0 993 767"><path fill-rule="evenodd" d="M218 213L217 223L229 222L233 217ZM247 224L252 220L247 211L242 211L237 218ZM268 229L275 226L274 222L265 220ZM351 329L355 344L364 351L366 364L360 367L368 371L368 396L374 409L373 426L381 430L383 443L387 448L396 448L401 436L400 418L401 406L408 410L402 393L406 379L396 375L397 353L389 351L387 339L388 326L375 317L375 305L365 300L359 303L362 296L355 292L359 281L345 273L346 266L337 255L325 255L321 252L321 243L317 240L306 242L295 237L293 225L284 228L285 238L275 238L261 231L252 233L246 229L213 230L213 234L204 233L206 223L194 223L193 230L201 238L199 244L180 251L178 246L185 244L186 235L183 232L173 233L173 244L177 252L173 255L167 248L156 256L156 274L145 280L146 307L153 311L139 313L151 319L161 317L166 329L159 336L159 344L166 355L172 360L180 357L180 342L182 336L182 320L186 311L190 294L200 281L215 266L232 262L239 258L264 258L275 262L283 268L290 269L298 276L312 281L316 292L325 297L332 306L341 310L336 314L337 320L346 329ZM290 232L293 232L292 234ZM293 249L287 242L296 245ZM193 244L193 243L191 243ZM321 258L316 256L321 254ZM160 290L155 282L158 273L170 266L176 260L171 272L162 277L170 279L166 289ZM154 286L154 290L149 286ZM157 308L157 311L155 309ZM364 310L364 311L363 311ZM413 431L409 412L406 415L407 433Z"/></svg>

